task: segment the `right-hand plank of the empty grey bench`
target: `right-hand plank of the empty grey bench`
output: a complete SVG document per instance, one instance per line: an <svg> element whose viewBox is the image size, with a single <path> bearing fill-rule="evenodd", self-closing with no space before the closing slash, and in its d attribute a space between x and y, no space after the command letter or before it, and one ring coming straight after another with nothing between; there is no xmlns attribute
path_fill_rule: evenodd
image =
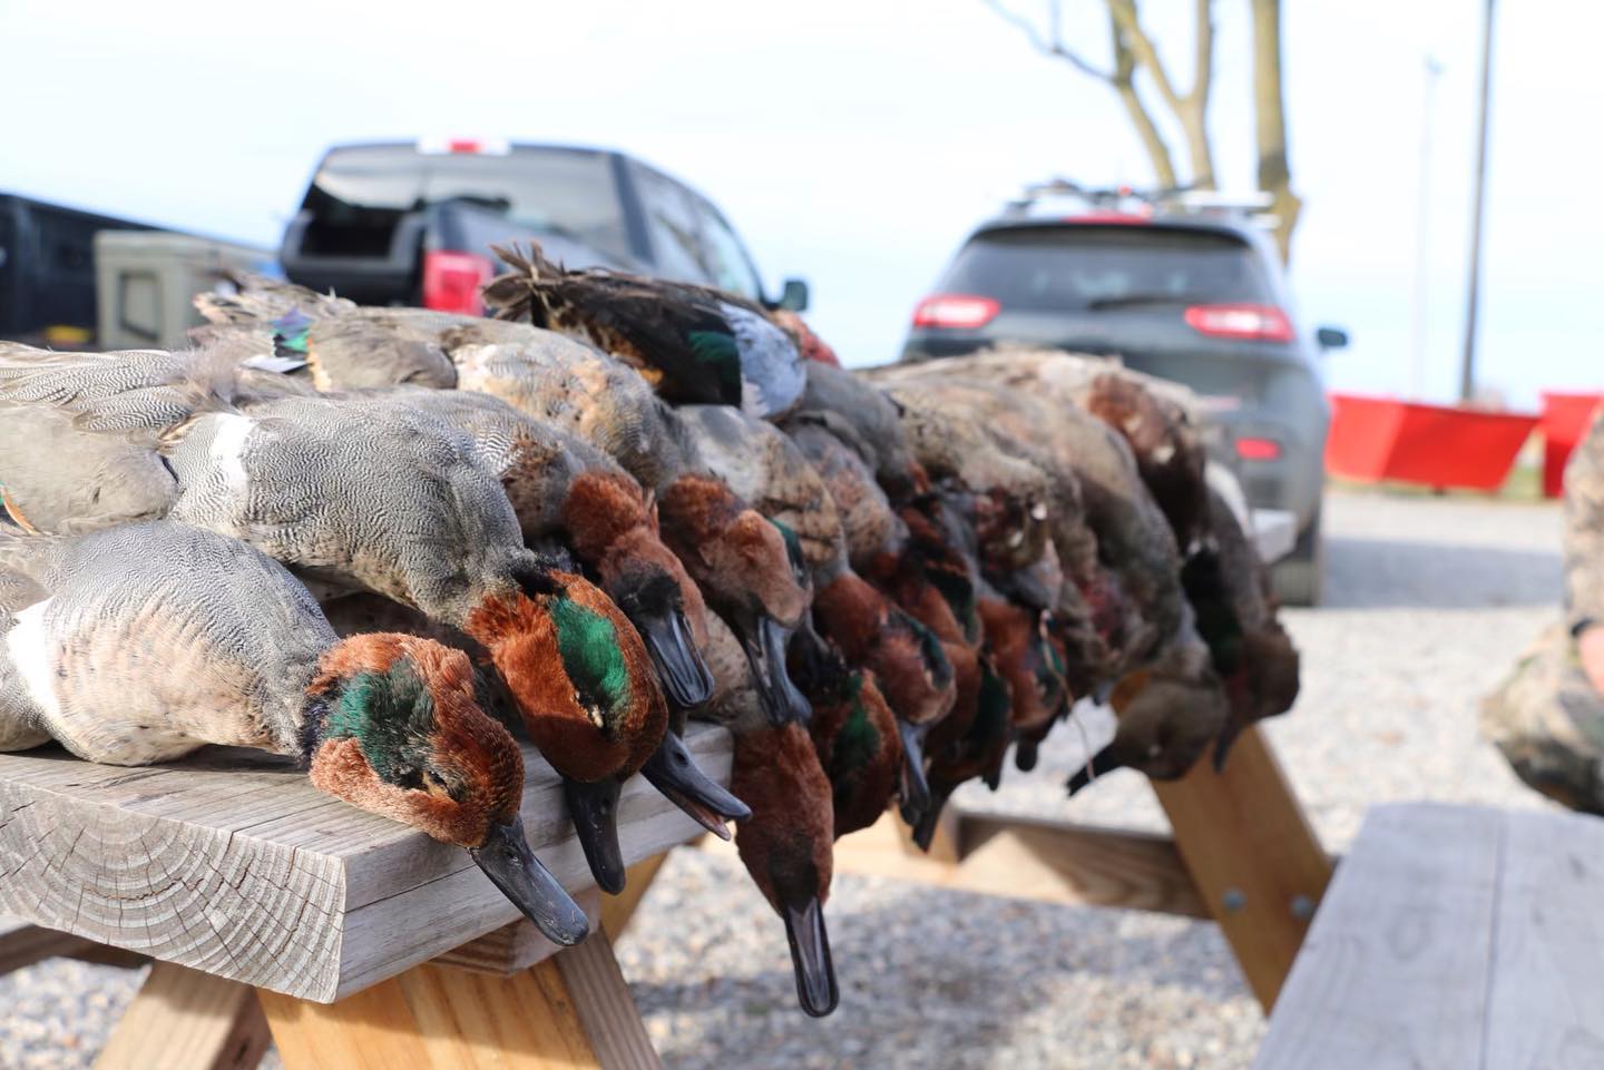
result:
<svg viewBox="0 0 1604 1070"><path fill-rule="evenodd" d="M1604 821L1503 813L1482 1067L1604 1065Z"/></svg>

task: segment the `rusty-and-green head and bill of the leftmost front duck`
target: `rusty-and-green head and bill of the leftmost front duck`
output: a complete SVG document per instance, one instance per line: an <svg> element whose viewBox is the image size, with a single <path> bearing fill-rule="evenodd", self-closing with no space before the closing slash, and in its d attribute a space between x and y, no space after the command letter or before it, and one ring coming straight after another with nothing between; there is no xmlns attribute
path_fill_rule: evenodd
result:
<svg viewBox="0 0 1604 1070"><path fill-rule="evenodd" d="M547 938L585 938L584 911L525 839L523 754L475 703L467 655L354 635L324 653L310 696L302 749L314 786L465 847Z"/></svg>

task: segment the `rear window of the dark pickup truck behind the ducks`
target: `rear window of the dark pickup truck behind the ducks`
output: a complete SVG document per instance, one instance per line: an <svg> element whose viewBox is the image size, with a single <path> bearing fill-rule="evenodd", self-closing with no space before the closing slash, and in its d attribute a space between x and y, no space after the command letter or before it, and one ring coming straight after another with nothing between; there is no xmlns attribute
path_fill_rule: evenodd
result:
<svg viewBox="0 0 1604 1070"><path fill-rule="evenodd" d="M465 199L534 231L571 236L616 257L629 239L602 152L515 146L505 154L427 154L404 144L334 149L311 180L303 250L383 255L407 212Z"/></svg>

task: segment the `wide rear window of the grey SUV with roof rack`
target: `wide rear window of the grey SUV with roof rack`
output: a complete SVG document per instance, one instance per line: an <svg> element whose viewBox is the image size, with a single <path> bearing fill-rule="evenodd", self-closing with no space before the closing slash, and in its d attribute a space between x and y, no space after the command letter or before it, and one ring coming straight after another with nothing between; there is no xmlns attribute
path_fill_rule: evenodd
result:
<svg viewBox="0 0 1604 1070"><path fill-rule="evenodd" d="M940 289L1030 311L1275 303L1254 250L1213 231L1043 226L977 234Z"/></svg>

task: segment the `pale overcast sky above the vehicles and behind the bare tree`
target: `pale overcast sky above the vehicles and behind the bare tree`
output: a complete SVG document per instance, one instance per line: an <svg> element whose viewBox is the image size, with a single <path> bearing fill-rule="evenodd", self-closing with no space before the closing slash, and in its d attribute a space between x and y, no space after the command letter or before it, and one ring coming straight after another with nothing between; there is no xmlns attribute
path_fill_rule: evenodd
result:
<svg viewBox="0 0 1604 1070"><path fill-rule="evenodd" d="M1031 11L1031 0L1014 0ZM1107 51L1100 0L1065 0ZM1190 79L1184 0L1144 19ZM1500 5L1482 382L1530 403L1604 380L1596 322L1604 5ZM1248 0L1217 0L1211 125L1253 184ZM1477 0L1286 0L1306 324L1354 347L1335 388L1408 393L1424 56L1437 80L1421 391L1458 380ZM340 5L0 0L0 189L276 245L334 141L481 135L616 146L717 202L773 287L813 284L849 363L892 359L914 302L1027 180L1150 181L1113 95L980 0Z"/></svg>

